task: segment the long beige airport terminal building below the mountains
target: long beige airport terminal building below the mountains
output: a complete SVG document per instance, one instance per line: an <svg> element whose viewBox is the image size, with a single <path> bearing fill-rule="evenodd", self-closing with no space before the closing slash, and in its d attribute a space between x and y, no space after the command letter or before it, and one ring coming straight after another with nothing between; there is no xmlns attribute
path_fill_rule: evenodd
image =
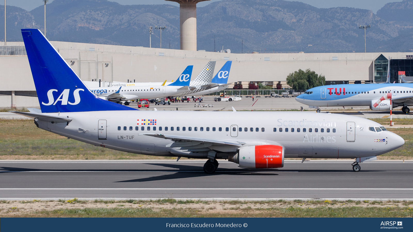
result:
<svg viewBox="0 0 413 232"><path fill-rule="evenodd" d="M235 54L149 47L128 47L51 41L71 68L85 81L164 82L176 80L194 65L192 78L209 61L216 71L232 60L228 82L275 85L298 69L325 76L326 84L383 82L390 59L391 81L398 71L413 76L413 52L374 53L254 53ZM0 45L0 107L38 107L36 89L23 42ZM244 85L244 88L247 85ZM230 85L231 88L231 85Z"/></svg>

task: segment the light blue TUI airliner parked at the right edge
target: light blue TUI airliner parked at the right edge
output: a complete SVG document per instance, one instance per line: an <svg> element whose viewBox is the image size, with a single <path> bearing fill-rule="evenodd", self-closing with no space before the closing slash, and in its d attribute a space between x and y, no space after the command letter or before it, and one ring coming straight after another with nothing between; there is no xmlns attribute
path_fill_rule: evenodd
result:
<svg viewBox="0 0 413 232"><path fill-rule="evenodd" d="M382 101L376 104L381 98ZM372 110L390 110L390 98L392 108L402 107L404 113L409 113L408 106L413 105L413 83L318 86L297 96L296 100L320 112L318 107L366 106Z"/></svg>

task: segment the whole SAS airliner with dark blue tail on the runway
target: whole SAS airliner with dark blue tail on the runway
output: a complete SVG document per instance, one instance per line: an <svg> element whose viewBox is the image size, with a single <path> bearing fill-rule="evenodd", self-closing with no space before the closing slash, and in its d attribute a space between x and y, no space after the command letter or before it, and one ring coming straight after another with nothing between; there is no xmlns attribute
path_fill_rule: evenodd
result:
<svg viewBox="0 0 413 232"><path fill-rule="evenodd" d="M12 111L38 128L107 149L282 168L285 158L375 160L403 138L365 118L313 112L138 111L94 95L38 29L22 29L41 110ZM199 118L200 120L187 120Z"/></svg>

